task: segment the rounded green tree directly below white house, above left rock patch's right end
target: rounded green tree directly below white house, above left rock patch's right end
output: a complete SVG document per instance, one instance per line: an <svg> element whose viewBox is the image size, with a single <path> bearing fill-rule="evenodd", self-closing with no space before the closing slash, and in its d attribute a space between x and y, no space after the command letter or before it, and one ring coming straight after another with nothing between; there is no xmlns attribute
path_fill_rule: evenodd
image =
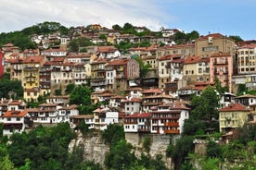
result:
<svg viewBox="0 0 256 170"><path fill-rule="evenodd" d="M102 132L102 138L106 143L114 145L120 140L124 140L123 126L117 124L109 124L108 128Z"/></svg>

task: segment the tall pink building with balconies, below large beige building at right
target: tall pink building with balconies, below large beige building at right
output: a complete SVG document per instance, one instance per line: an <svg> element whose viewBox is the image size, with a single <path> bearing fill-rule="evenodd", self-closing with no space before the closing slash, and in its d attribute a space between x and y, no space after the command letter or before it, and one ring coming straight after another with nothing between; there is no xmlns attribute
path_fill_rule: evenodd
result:
<svg viewBox="0 0 256 170"><path fill-rule="evenodd" d="M229 91L232 91L232 74L233 74L233 61L230 53L214 53L210 59L210 76L211 82L219 79L222 86L227 86Z"/></svg>

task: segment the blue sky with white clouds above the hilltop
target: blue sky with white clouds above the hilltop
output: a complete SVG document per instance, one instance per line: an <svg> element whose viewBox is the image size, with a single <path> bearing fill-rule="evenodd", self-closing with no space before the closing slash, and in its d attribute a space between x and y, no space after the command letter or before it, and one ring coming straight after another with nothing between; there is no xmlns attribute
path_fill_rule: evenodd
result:
<svg viewBox="0 0 256 170"><path fill-rule="evenodd" d="M44 21L65 27L131 23L150 30L197 30L256 39L255 0L0 0L0 32Z"/></svg>

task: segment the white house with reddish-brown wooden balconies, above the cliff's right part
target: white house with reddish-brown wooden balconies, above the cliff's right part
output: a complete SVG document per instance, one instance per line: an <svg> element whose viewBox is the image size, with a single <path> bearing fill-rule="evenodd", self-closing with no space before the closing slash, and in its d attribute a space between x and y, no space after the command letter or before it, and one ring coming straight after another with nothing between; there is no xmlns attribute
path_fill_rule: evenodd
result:
<svg viewBox="0 0 256 170"><path fill-rule="evenodd" d="M151 116L151 133L182 134L184 122L189 117L189 108L183 103L164 103L157 106Z"/></svg>

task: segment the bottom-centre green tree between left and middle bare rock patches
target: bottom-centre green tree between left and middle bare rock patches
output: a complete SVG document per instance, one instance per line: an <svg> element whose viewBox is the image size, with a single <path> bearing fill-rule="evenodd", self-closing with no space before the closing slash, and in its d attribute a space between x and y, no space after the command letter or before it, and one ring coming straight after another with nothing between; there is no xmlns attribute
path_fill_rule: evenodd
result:
<svg viewBox="0 0 256 170"><path fill-rule="evenodd" d="M104 164L108 169L129 169L136 161L135 155L131 151L132 145L130 143L125 140L119 140L116 145L110 148Z"/></svg>

